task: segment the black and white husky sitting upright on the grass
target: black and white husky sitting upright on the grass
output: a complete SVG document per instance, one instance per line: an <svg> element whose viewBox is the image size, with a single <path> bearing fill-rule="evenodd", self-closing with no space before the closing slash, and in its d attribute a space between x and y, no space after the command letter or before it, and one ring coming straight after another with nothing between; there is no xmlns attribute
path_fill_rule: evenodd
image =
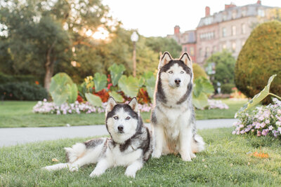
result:
<svg viewBox="0 0 281 187"><path fill-rule="evenodd" d="M160 57L151 115L153 158L180 153L183 160L191 161L194 153L204 150L204 141L196 134L192 81L188 53L179 60L173 60L168 52Z"/></svg>

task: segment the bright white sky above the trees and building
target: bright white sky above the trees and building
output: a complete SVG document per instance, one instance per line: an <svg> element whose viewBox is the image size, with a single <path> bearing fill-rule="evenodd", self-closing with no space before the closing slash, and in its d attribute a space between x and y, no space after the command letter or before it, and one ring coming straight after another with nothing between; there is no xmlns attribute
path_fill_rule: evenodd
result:
<svg viewBox="0 0 281 187"><path fill-rule="evenodd" d="M257 0L103 0L113 18L121 21L125 29L136 29L143 36L174 34L174 26L181 32L196 29L205 15L205 6L211 15L224 10L225 4L236 6L256 4ZM265 6L281 7L281 0L261 0Z"/></svg>

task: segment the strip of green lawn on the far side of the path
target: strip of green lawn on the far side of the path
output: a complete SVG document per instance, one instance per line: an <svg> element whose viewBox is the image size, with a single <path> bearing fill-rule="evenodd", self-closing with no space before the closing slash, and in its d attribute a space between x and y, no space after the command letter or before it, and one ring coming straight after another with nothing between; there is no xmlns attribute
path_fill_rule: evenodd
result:
<svg viewBox="0 0 281 187"><path fill-rule="evenodd" d="M196 111L197 120L210 118L233 118L235 112L245 103L224 99L230 109L211 109ZM68 115L32 113L32 107L37 102L0 102L0 127L54 127L70 125L100 125L104 124L105 113L81 113ZM150 113L141 113L145 123L150 122Z"/></svg>

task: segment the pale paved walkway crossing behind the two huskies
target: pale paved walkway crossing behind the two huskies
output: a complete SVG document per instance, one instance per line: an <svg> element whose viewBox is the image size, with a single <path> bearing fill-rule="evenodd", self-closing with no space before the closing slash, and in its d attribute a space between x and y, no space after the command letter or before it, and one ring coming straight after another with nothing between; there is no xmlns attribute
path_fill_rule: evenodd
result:
<svg viewBox="0 0 281 187"><path fill-rule="evenodd" d="M197 129L231 127L236 119L197 120ZM150 127L150 124L145 124ZM105 125L73 127L22 127L0 128L0 147L34 141L74 137L95 137L108 134Z"/></svg>

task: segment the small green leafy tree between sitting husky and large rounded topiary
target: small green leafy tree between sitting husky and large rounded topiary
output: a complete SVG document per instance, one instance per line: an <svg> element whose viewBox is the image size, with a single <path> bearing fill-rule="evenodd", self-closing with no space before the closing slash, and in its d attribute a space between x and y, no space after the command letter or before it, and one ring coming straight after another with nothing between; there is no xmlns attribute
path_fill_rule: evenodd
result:
<svg viewBox="0 0 281 187"><path fill-rule="evenodd" d="M216 90L218 88L218 82L221 83L221 86L226 83L234 84L235 58L231 53L227 50L214 53L209 57L207 62L214 62L216 64L216 74L211 75L212 77L210 78Z"/></svg>

